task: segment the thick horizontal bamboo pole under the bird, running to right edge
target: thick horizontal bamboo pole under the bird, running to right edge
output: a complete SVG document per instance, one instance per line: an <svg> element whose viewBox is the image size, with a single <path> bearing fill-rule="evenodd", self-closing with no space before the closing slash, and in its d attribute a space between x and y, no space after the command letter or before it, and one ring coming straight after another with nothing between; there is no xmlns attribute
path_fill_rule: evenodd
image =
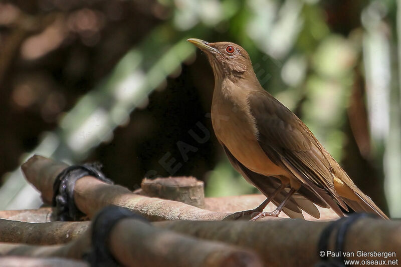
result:
<svg viewBox="0 0 401 267"><path fill-rule="evenodd" d="M268 221L161 221L154 225L202 239L224 241L256 251L265 266L313 266L319 258L317 243L331 222L302 219ZM333 251L334 235L329 250ZM395 257L357 256L357 251L394 252ZM327 251L324 251L327 254ZM361 218L349 228L343 252L347 259L401 261L401 222Z"/></svg>

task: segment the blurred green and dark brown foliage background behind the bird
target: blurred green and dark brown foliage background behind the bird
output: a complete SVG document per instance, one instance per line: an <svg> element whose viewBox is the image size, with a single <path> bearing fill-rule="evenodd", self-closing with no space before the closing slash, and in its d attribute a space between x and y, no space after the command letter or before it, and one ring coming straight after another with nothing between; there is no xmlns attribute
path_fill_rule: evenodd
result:
<svg viewBox="0 0 401 267"><path fill-rule="evenodd" d="M400 7L394 0L0 2L0 209L33 208L33 153L100 161L117 183L195 176L206 194L256 192L211 125L214 77L187 38L243 46L385 212L401 217Z"/></svg>

